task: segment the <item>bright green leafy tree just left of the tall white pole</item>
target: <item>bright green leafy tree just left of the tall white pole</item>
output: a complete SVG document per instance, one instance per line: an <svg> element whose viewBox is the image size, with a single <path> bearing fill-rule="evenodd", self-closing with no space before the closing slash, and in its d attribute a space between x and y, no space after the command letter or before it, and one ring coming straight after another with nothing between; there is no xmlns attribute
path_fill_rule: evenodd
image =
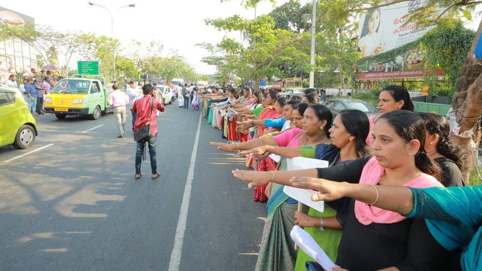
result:
<svg viewBox="0 0 482 271"><path fill-rule="evenodd" d="M275 65L279 61L293 61L299 65L309 63L306 50L299 50L309 44L306 36L275 28L275 22L269 15L259 16L254 20L235 15L205 21L218 30L240 31L249 41L249 45L244 47L233 39L224 39L215 49L229 52L227 55L231 58L225 60L226 66L223 68L232 67L234 74L241 78L242 84L253 79L257 87L263 78L281 75L280 68Z"/></svg>

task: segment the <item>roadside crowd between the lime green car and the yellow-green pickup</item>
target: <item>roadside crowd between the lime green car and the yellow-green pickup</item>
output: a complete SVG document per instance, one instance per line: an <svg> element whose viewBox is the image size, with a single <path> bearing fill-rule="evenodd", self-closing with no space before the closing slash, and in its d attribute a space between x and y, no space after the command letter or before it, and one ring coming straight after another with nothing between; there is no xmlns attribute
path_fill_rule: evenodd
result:
<svg viewBox="0 0 482 271"><path fill-rule="evenodd" d="M30 74L30 76L24 77L20 85L17 83L17 76L11 74L5 80L4 84L20 89L33 116L45 115L45 111L43 110L43 97L50 92L50 89L57 84L61 77L52 75L51 71L44 70L41 70L40 74L37 74L34 68L31 69Z"/></svg>

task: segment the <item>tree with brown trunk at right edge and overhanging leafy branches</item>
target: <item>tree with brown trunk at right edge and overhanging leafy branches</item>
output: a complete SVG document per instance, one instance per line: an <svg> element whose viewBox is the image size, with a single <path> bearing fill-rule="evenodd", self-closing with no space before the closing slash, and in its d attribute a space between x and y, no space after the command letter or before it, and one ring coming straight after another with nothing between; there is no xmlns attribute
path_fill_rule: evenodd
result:
<svg viewBox="0 0 482 271"><path fill-rule="evenodd" d="M326 24L348 25L351 18L356 18L361 12L375 7L382 7L409 0L336 0L319 3L318 11ZM478 0L427 0L428 6L438 8L418 7L412 10L407 23L417 22L420 25L437 24L440 27L450 27L458 22L460 16L471 19ZM462 71L457 83L453 109L457 112L457 125L452 129L453 142L466 150L468 154L476 154L481 132L479 129L482 114L482 60L473 57L477 41L482 32L482 21L474 36L472 45L466 54ZM463 169L465 180L468 180L470 168L477 155L465 157L466 166Z"/></svg>

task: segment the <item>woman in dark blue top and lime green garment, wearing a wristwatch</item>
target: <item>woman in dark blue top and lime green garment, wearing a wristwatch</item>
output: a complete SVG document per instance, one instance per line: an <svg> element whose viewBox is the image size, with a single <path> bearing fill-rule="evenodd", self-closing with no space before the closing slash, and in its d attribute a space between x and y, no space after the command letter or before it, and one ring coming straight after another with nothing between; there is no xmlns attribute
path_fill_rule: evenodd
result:
<svg viewBox="0 0 482 271"><path fill-rule="evenodd" d="M279 154L284 157L304 156L308 158L327 159L332 161L331 165L341 164L358 157L368 155L369 148L365 144L365 138L369 131L368 117L359 110L341 111L334 119L333 126L330 128L330 139L333 145L325 147L324 144L318 145L315 149L300 148L279 148ZM332 147L340 148L340 152L332 156ZM241 154L262 155L266 152L277 152L272 146L262 146L249 151L241 152ZM243 171L244 172L244 171ZM241 174L240 171L234 172ZM253 172L244 172L244 174L256 174ZM273 186L280 186L273 184ZM295 212L295 224L305 227L308 232L326 252L328 257L336 260L338 244L342 235L342 227L336 220L336 211L325 205L323 212L309 208L308 214ZM321 227L323 221L323 227ZM322 230L321 230L322 229ZM295 270L306 270L305 262L314 261L302 250L298 250L296 258Z"/></svg>

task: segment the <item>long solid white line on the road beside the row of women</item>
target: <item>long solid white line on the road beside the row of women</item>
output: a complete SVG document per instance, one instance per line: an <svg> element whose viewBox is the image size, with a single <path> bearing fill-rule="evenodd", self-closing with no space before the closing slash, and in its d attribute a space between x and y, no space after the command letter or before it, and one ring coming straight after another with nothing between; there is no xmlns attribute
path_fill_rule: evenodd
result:
<svg viewBox="0 0 482 271"><path fill-rule="evenodd" d="M194 166L196 165L196 154L198 153L199 134L201 132L201 118L199 115L198 130L196 131L196 139L194 140L193 154L191 155L191 163L189 164L188 178L184 187L182 196L181 212L177 221L176 235L174 237L174 247L171 252L169 261L169 271L178 271L181 264L182 244L184 242L184 232L186 232L186 221L188 217L189 200L191 198L191 188L193 186Z"/></svg>

